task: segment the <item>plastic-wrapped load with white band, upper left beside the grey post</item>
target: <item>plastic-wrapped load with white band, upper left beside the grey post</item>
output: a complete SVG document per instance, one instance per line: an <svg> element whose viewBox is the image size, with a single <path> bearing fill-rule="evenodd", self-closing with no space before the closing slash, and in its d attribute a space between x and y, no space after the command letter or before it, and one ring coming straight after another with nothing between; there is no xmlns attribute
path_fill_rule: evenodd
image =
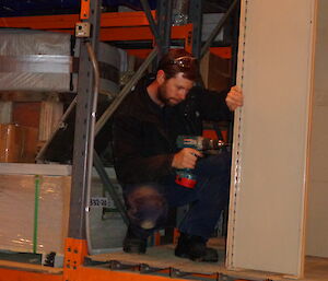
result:
<svg viewBox="0 0 328 281"><path fill-rule="evenodd" d="M70 37L50 32L1 31L0 90L69 91Z"/></svg>

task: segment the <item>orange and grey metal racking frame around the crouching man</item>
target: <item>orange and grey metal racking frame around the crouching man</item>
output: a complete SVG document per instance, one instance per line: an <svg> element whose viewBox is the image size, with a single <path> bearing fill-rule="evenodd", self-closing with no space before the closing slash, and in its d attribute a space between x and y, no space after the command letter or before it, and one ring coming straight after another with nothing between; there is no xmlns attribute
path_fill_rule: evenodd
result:
<svg viewBox="0 0 328 281"><path fill-rule="evenodd" d="M201 46L201 1L190 1L190 17L194 24L185 26L171 26L171 10L173 0L161 0L157 5L157 20L155 24L154 12L150 10L148 2L141 0L144 13L105 13L101 15L99 0L81 0L82 12L80 17L82 22L91 25L91 36L85 37L81 42L80 47L80 67L79 67L79 82L77 95L77 118L75 118L75 133L74 133L74 153L73 153L73 168L72 168L72 187L71 187L71 202L70 202L70 220L69 234L66 241L65 249L65 267L61 272L43 271L35 273L32 270L20 269L3 269L0 268L0 273L9 277L10 280L165 280L163 276L143 274L128 274L121 271L104 271L97 268L91 268L84 265L84 258L87 255L86 245L86 229L85 221L89 212L89 186L91 180L91 169L93 161L97 171L102 174L103 166L96 153L93 150L94 136L101 130L106 120L115 112L119 103L124 99L132 85L139 80L144 69L152 62L157 52L164 54L169 48L169 42L174 38L183 38L185 40L185 48L192 51L197 58L201 58L210 47L213 39L216 37L223 27L226 19L235 9L238 0L234 0L229 13L219 23L216 28L210 35L206 45ZM40 21L42 20L42 21ZM0 21L0 27L30 27L38 30L48 30L57 32L67 32L73 34L74 25L79 21L78 15L51 15L51 16L32 16L32 17L9 17L5 21ZM131 27L132 25L132 27ZM133 27L134 25L134 27ZM140 26L141 25L141 26ZM121 28L118 26L126 26ZM136 32L138 31L138 32ZM118 34L119 33L119 34ZM155 43L156 48L149 55L147 60L131 79L130 83L126 85L118 97L112 103L108 109L95 122L95 104L97 92L96 66L93 65L92 56L96 55L97 42L120 39L151 39ZM117 37L116 37L117 36ZM93 52L93 50L95 50ZM106 175L102 176L103 182L106 183ZM114 268L115 269L115 268ZM139 270L142 272L142 270ZM160 270L161 272L163 270ZM159 270L156 272L160 272ZM167 271L167 272L166 272ZM164 277L175 278L176 280L186 279L186 277L197 276L201 280L237 280L223 274L195 274L187 272L178 272L174 269L164 270ZM144 273L144 272L143 272ZM147 272L149 273L149 272ZM0 276L1 276L0 274ZM7 279L7 280L9 280ZM1 278L0 278L1 280Z"/></svg>

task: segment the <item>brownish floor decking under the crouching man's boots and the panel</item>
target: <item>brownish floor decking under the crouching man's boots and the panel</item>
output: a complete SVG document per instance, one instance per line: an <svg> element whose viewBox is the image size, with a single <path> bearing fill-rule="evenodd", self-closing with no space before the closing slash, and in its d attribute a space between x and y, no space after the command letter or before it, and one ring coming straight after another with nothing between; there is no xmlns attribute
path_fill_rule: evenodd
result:
<svg viewBox="0 0 328 281"><path fill-rule="evenodd" d="M219 262L195 262L188 259L183 259L174 256L174 245L163 245L148 248L147 254L126 254L120 251L102 254L91 256L93 260L97 261L119 261L122 265L147 265L151 268L157 269L168 269L174 268L181 272L192 272L192 273L223 273L234 278L244 278L248 280L293 280L289 277L282 274L259 272L251 270L237 270L229 271L224 266L225 250L224 250L224 239L212 238L210 241L210 246L215 247L219 250ZM108 267L105 266L105 267ZM136 270L136 269L133 269ZM305 261L305 277L298 279L300 281L327 281L328 280L328 259L327 258L316 258L306 257Z"/></svg>

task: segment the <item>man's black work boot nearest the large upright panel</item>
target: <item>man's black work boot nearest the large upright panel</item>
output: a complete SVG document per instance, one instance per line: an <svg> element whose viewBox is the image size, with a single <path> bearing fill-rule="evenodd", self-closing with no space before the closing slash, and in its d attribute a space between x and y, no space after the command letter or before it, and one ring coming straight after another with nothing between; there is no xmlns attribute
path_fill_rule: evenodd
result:
<svg viewBox="0 0 328 281"><path fill-rule="evenodd" d="M213 248L208 248L204 238L184 233L180 234L175 255L194 261L218 261L218 251Z"/></svg>

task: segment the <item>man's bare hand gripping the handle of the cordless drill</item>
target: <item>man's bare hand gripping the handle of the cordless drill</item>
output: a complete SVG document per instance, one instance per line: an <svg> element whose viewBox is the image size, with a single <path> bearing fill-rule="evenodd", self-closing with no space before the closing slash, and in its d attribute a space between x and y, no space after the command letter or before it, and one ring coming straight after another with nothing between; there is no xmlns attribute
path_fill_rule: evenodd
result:
<svg viewBox="0 0 328 281"><path fill-rule="evenodd" d="M198 157L202 157L202 153L198 150L186 148L174 154L172 166L175 168L195 168Z"/></svg>

